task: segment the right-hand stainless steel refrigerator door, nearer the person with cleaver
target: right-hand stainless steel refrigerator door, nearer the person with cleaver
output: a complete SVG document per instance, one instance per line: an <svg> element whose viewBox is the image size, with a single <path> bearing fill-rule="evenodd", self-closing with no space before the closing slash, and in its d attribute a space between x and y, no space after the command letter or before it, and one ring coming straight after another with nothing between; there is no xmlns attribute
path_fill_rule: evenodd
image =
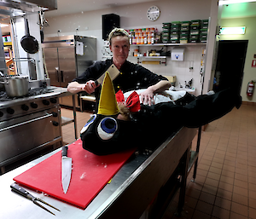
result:
<svg viewBox="0 0 256 219"><path fill-rule="evenodd" d="M74 47L59 47L59 66L60 66L60 78L61 87L67 88L67 84L70 83L73 78L77 77L76 73L76 59Z"/></svg>

